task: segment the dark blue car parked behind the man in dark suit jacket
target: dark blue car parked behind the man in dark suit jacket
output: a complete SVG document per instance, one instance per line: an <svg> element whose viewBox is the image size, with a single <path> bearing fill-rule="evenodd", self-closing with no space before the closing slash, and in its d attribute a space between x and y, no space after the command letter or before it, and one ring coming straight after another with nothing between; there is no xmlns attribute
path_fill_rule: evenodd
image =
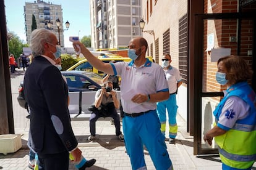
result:
<svg viewBox="0 0 256 170"><path fill-rule="evenodd" d="M101 76L87 71L61 71L61 74L67 79L69 92L90 92L98 91L103 85ZM93 98L94 99L94 98ZM19 96L17 97L20 107L27 109L30 113L28 103L25 101L23 91L23 81L20 82ZM79 100L79 99L77 99Z"/></svg>

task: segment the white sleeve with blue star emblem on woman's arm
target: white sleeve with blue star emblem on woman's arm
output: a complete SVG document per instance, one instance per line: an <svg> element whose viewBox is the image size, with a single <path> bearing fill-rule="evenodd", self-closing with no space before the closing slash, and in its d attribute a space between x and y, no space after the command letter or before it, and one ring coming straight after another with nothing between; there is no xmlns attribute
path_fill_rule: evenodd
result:
<svg viewBox="0 0 256 170"><path fill-rule="evenodd" d="M224 91L224 95L226 95L226 91ZM224 103L217 126L228 131L236 124L237 119L245 118L249 114L249 110L250 105L244 100L237 96L231 96Z"/></svg>

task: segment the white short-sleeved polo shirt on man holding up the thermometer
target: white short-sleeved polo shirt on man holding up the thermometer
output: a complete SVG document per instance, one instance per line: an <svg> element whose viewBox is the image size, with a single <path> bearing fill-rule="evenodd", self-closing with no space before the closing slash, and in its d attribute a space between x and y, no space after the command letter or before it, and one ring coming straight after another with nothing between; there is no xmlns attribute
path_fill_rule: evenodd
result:
<svg viewBox="0 0 256 170"><path fill-rule="evenodd" d="M124 112L140 113L142 111L155 110L156 103L143 102L134 103L130 99L135 94L155 94L160 91L168 91L168 83L166 81L163 68L156 63L147 59L145 64L136 67L132 62L111 63L114 75L120 75L121 81L121 101ZM133 92L130 99L126 99L124 95ZM130 94L129 94L130 95ZM125 100L124 100L125 99Z"/></svg>

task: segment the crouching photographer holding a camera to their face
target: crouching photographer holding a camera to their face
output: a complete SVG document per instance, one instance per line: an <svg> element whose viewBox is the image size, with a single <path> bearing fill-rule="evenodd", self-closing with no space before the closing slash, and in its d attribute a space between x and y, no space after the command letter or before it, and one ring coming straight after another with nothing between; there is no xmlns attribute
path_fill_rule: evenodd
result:
<svg viewBox="0 0 256 170"><path fill-rule="evenodd" d="M107 81L104 87L99 89L95 94L95 103L92 115L90 116L90 133L91 135L85 142L90 142L95 138L96 127L95 123L98 118L101 117L111 117L114 119L114 126L116 127L116 136L122 142L124 141L124 136L120 131L120 118L117 114L116 108L119 108L119 99L117 97L116 91L113 90L112 81Z"/></svg>

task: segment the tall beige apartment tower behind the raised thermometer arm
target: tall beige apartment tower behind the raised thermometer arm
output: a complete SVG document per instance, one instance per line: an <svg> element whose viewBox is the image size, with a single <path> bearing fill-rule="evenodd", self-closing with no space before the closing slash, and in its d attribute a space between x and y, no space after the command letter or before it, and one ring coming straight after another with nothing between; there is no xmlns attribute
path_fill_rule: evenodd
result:
<svg viewBox="0 0 256 170"><path fill-rule="evenodd" d="M141 36L141 0L90 0L92 47L127 49L130 39Z"/></svg>

